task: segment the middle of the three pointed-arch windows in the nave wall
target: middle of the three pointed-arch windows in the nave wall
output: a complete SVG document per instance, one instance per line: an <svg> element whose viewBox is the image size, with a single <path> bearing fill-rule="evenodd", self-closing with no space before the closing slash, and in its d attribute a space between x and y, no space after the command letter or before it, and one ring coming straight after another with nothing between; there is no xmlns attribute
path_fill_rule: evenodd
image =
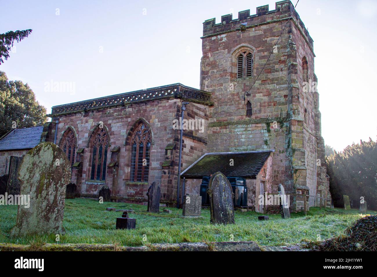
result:
<svg viewBox="0 0 377 277"><path fill-rule="evenodd" d="M106 160L109 138L103 128L98 128L92 138L92 161L90 179L104 181L106 179Z"/></svg>

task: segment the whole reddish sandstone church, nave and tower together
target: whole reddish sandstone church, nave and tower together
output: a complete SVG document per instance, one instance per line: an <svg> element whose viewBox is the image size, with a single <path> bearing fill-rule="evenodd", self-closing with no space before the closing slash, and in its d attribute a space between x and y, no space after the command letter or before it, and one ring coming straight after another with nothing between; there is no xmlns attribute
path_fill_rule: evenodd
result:
<svg viewBox="0 0 377 277"><path fill-rule="evenodd" d="M313 39L293 4L205 20L201 40L199 89L176 83L52 107L38 132L67 154L77 196L98 198L107 186L113 201L143 204L156 182L173 206L221 171L246 180L244 206L262 213L260 196L279 184L292 211L318 197L330 205ZM2 147L8 135L4 173L18 153Z"/></svg>

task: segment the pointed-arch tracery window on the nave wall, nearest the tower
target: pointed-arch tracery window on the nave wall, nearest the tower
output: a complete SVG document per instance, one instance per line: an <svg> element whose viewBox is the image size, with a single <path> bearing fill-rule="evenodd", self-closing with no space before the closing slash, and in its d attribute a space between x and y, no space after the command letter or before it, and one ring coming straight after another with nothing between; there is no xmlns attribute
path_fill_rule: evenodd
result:
<svg viewBox="0 0 377 277"><path fill-rule="evenodd" d="M148 182L150 157L150 132L140 123L131 138L131 182Z"/></svg>

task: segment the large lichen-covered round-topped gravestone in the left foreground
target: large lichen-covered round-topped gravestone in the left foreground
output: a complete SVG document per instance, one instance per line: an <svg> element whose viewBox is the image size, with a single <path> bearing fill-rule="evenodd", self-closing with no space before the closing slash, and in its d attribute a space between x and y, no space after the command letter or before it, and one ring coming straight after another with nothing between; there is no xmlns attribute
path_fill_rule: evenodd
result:
<svg viewBox="0 0 377 277"><path fill-rule="evenodd" d="M63 234L64 200L70 178L70 162L57 145L43 142L31 149L24 156L18 175L20 194L30 196L30 206L18 206L11 237Z"/></svg>

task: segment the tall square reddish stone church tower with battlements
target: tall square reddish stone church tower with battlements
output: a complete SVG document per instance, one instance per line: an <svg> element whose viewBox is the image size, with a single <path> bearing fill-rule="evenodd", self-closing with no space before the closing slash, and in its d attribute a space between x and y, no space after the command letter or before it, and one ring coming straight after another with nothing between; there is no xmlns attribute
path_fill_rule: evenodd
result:
<svg viewBox="0 0 377 277"><path fill-rule="evenodd" d="M281 1L273 11L266 5L255 15L246 10L237 19L228 14L220 23L215 18L203 23L200 88L211 92L214 103L207 152L274 149L272 192L284 184L286 192L310 194L309 206L318 206L313 196L321 191L331 196L315 55L313 40L293 11L290 1ZM255 190L259 195L258 185ZM299 198L297 210L303 206Z"/></svg>

